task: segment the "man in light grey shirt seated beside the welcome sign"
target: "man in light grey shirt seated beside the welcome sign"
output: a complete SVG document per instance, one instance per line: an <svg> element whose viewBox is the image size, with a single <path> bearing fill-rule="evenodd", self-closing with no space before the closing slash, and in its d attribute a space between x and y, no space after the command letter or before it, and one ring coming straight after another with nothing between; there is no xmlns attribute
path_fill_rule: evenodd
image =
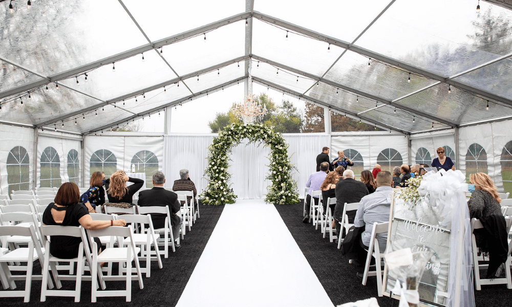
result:
<svg viewBox="0 0 512 307"><path fill-rule="evenodd" d="M354 219L355 227L365 226L365 231L361 233L359 246L357 246L357 261L355 266L357 277L362 278L365 270L366 257L368 256L368 247L372 237L373 223L389 222L389 212L391 206L390 195L393 192L393 176L389 171L381 171L377 174L377 189L374 193L365 196L359 202L359 208ZM376 237L380 251L386 250L387 233L378 234Z"/></svg>

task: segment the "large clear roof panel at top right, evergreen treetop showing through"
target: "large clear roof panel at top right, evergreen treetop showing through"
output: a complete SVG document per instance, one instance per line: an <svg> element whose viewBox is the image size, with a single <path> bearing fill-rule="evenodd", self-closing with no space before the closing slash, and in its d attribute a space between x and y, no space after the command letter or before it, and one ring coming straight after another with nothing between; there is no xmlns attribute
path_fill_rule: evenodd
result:
<svg viewBox="0 0 512 307"><path fill-rule="evenodd" d="M398 0L356 45L445 77L452 76L510 52L496 46L509 45L512 36L487 41L488 29L482 24L500 16L510 20L512 12L485 2L480 5L482 13L477 14L475 7L465 0ZM493 41L496 39L499 42Z"/></svg>

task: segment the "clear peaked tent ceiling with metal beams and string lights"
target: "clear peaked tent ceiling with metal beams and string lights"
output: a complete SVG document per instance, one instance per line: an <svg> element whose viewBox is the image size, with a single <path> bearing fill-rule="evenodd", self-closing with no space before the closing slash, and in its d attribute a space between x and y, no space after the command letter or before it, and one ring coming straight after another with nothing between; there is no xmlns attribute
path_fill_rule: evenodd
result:
<svg viewBox="0 0 512 307"><path fill-rule="evenodd" d="M512 12L487 2L8 4L0 123L89 134L244 81L407 134L512 118Z"/></svg>

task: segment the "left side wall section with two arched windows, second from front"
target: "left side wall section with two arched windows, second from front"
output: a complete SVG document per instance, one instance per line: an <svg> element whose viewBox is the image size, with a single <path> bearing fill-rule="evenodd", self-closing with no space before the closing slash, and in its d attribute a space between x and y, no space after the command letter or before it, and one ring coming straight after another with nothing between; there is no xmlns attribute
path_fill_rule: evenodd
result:
<svg viewBox="0 0 512 307"><path fill-rule="evenodd" d="M80 165L81 164L81 156L82 156L82 153L81 153L82 150L80 148L80 141L40 136L38 138L38 142L37 142L37 157L34 157L36 159L34 161L35 161L35 165L37 167L36 185L38 187L41 186L41 156L42 156L43 151L47 147L54 148L58 153L58 159L60 162L59 176L61 178L61 183L69 182L68 153L72 149L74 149L78 152L79 170L80 170L80 174L81 174L81 169L83 166ZM78 178L79 178L78 186L81 186L81 184L82 184L81 176L79 176ZM57 188L58 188L58 186L57 186Z"/></svg>

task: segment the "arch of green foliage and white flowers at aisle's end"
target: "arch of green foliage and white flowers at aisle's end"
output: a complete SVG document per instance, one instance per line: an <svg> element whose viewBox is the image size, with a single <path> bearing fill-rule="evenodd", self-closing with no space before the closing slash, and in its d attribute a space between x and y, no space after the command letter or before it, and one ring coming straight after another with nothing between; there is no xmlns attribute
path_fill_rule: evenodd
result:
<svg viewBox="0 0 512 307"><path fill-rule="evenodd" d="M233 146L240 144L245 138L249 139L249 143L255 143L258 146L265 143L265 146L269 146L271 150L269 173L266 179L272 182L272 186L268 189L265 201L272 204L298 203L297 183L291 177L291 171L295 167L288 157L288 145L281 134L261 123L233 123L219 131L219 136L214 138L208 147L208 167L204 175L209 179L209 183L200 195L202 203L233 204L236 200L237 195L228 186L231 178L231 174L227 171L228 157Z"/></svg>

